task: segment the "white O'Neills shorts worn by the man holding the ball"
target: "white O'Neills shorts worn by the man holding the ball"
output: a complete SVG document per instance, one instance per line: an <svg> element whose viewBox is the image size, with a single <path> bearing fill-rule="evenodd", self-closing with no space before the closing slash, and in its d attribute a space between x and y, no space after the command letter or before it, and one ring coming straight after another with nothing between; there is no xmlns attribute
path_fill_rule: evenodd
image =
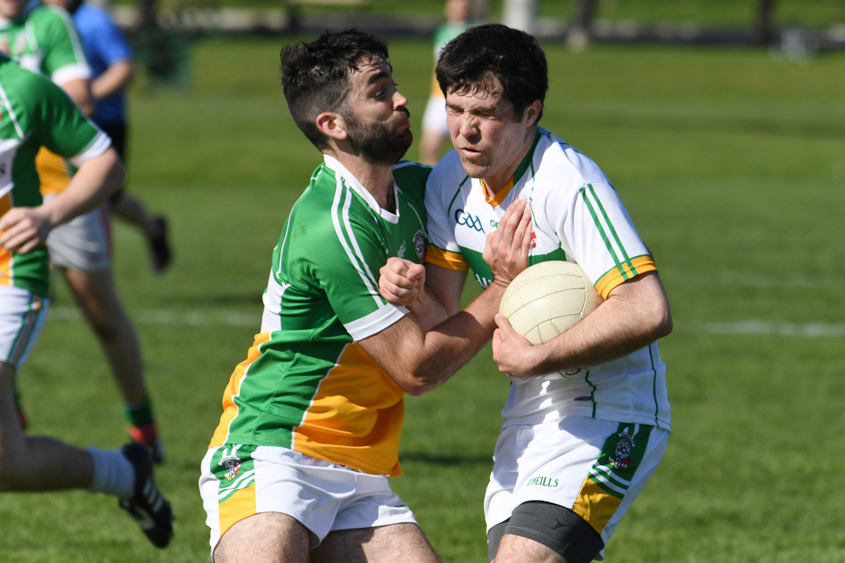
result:
<svg viewBox="0 0 845 563"><path fill-rule="evenodd" d="M646 425L572 414L540 425L505 426L484 496L487 529L526 501L565 506L608 544L651 479L669 433ZM604 550L597 559L601 560Z"/></svg>

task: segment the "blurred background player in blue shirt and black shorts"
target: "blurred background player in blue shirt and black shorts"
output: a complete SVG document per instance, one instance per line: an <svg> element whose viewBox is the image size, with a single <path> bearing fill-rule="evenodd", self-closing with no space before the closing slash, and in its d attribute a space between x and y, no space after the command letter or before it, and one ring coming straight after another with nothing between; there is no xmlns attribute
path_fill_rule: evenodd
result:
<svg viewBox="0 0 845 563"><path fill-rule="evenodd" d="M126 163L126 95L123 90L132 80L134 68L132 47L109 13L99 6L81 0L46 0L68 11L82 40L82 49L91 69L91 97L95 103L94 122L112 138L112 146ZM151 265L155 273L170 263L166 220L151 215L138 198L124 188L110 201L112 213L127 220L144 233L150 247Z"/></svg>

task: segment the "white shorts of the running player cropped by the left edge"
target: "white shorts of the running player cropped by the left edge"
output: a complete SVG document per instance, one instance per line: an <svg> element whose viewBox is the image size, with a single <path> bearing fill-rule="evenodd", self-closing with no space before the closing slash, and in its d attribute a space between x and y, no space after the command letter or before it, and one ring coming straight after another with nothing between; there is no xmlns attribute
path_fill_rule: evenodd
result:
<svg viewBox="0 0 845 563"><path fill-rule="evenodd" d="M0 286L0 361L24 365L47 317L50 300L11 285Z"/></svg>

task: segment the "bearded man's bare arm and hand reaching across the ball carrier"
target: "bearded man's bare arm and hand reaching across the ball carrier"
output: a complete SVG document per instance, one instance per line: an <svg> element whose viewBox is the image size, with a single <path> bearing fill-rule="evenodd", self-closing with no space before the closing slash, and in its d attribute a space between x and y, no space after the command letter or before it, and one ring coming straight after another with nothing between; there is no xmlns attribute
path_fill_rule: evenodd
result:
<svg viewBox="0 0 845 563"><path fill-rule="evenodd" d="M493 270L493 283L464 311L427 333L413 318L404 317L358 344L406 392L422 395L437 387L493 335L499 301L510 280L527 267L530 246L531 208L525 203L512 204L499 229L488 235L484 249L484 260Z"/></svg>

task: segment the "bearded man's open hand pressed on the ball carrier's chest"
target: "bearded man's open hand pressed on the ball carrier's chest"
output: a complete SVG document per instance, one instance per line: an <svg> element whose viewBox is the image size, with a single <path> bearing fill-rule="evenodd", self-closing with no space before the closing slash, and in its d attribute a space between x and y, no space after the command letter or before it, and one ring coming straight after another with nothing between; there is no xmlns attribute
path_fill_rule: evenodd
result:
<svg viewBox="0 0 845 563"><path fill-rule="evenodd" d="M531 251L531 205L527 199L517 199L499 221L499 226L487 235L482 257L493 271L493 280L510 284L522 270L528 268Z"/></svg>

